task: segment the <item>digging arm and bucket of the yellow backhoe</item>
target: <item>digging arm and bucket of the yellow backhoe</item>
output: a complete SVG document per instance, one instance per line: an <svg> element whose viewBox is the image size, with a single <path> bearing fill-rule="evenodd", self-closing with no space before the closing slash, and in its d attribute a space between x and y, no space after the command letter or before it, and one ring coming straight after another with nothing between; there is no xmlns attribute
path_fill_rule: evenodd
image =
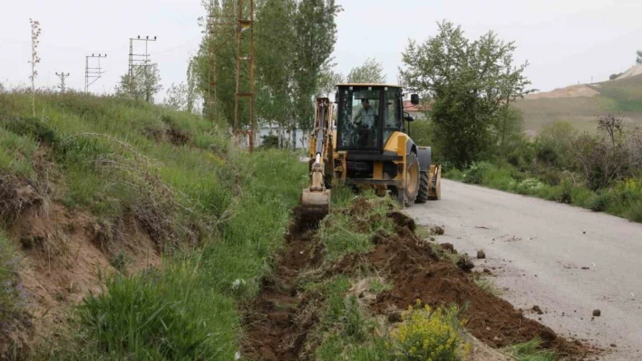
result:
<svg viewBox="0 0 642 361"><path fill-rule="evenodd" d="M320 214L330 212L330 190L326 188L326 162L332 158L332 116L334 103L327 98L316 99L315 128L310 138L310 186L303 190L301 204L306 210Z"/></svg>

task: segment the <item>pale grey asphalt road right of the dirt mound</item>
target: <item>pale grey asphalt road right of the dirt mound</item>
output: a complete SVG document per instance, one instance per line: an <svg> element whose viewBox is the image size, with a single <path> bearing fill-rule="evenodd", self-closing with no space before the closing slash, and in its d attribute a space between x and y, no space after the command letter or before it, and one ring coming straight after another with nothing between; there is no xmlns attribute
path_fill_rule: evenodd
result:
<svg viewBox="0 0 642 361"><path fill-rule="evenodd" d="M443 226L437 242L473 260L483 250L476 268L492 271L502 298L561 336L607 348L601 360L642 360L642 224L445 179L442 197L407 212Z"/></svg>

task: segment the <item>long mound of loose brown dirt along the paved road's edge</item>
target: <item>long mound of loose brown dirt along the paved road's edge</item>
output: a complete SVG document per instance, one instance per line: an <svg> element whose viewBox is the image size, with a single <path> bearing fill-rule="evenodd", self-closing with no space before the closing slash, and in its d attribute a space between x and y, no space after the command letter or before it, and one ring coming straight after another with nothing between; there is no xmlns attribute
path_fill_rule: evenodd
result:
<svg viewBox="0 0 642 361"><path fill-rule="evenodd" d="M410 230L390 237L365 259L377 269L388 271L393 280L393 290L381 292L373 306L380 313L406 309L417 299L433 307L457 304L468 321L466 328L491 347L540 337L543 347L555 347L569 356L584 356L585 350L579 345L570 344L550 328L525 318L508 301L480 289L451 262L436 259L432 249Z"/></svg>

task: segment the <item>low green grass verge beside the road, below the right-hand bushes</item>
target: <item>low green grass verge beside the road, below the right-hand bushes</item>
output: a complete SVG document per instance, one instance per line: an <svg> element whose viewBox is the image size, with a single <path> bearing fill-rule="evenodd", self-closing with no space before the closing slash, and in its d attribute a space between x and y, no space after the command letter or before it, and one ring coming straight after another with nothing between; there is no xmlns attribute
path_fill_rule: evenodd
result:
<svg viewBox="0 0 642 361"><path fill-rule="evenodd" d="M470 169L452 169L444 174L452 180L473 185L483 185L519 195L530 195L564 204L573 204L594 212L605 212L642 222L642 180L636 178L617 182L614 185L592 191L578 185L571 176L563 178L559 185L550 185L540 179L541 175L521 172L508 163L478 163Z"/></svg>

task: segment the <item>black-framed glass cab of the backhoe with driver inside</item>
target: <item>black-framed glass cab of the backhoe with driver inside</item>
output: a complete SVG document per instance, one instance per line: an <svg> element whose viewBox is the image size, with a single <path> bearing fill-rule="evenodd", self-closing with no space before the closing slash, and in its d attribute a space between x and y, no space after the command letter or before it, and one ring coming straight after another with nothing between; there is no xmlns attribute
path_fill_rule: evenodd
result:
<svg viewBox="0 0 642 361"><path fill-rule="evenodd" d="M404 132L402 88L340 84L336 93L336 150L381 154L395 131ZM418 97L413 96L418 102Z"/></svg>

